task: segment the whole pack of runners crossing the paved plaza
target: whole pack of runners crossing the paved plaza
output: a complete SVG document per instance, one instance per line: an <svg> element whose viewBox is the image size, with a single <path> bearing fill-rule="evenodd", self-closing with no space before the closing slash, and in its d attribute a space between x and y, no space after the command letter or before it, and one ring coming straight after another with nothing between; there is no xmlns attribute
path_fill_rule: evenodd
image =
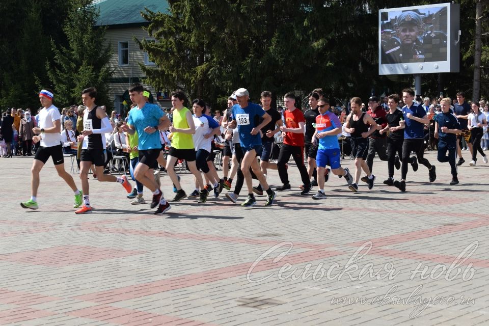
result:
<svg viewBox="0 0 489 326"><path fill-rule="evenodd" d="M272 94L263 92L260 96L262 106L250 101L248 90L240 88L228 98L228 108L223 117L225 147L223 150L223 172L220 178L213 165L212 139L214 135L221 134L221 127L210 117L209 108L202 99L193 101L192 111L184 106L185 94L176 91L171 94L173 105L173 124L161 109L148 102L143 86L134 84L129 88L129 96L135 106L128 115L127 124L122 126L128 140L130 155L131 177L137 183L132 188L126 176L116 177L103 173L105 162L104 133L111 132L112 126L101 107L95 104L97 91L88 88L82 92L82 101L86 106L83 115L83 131L80 132L78 142L82 142L80 155L80 179L82 189L78 189L70 174L64 170L63 151L60 139L60 112L52 104L53 92L45 89L39 93L42 110L39 113L39 127L34 128L36 136L34 141L40 141L40 148L36 152L32 167L32 196L22 202L24 208L37 209L37 191L39 187L39 172L51 156L58 174L66 181L74 192L73 207L79 208L77 214L92 212L89 198L88 172L92 165L98 181L120 183L128 197L138 195L135 203L142 203L143 186L153 194L151 208L157 207L154 214L162 214L170 209L170 203L165 199L160 189L159 172L154 174L158 164L165 166L170 179L174 184L175 198L178 202L187 197L183 191L180 178L175 172L177 160L184 160L187 169L195 179L195 191L189 197L198 197L198 203L205 203L209 192L213 188L214 196L218 197L223 187L230 190L234 176L237 174L234 191L227 193L226 197L236 203L243 183L246 182L248 196L241 206L249 207L256 204L254 194L266 193L265 206L272 205L276 198L267 181L269 169L278 170L281 186L276 191L283 192L291 188L288 178L288 161L290 156L295 161L300 172L302 185L301 195L310 193L312 186L317 185L318 191L313 199L325 199L324 183L328 181L330 173L344 177L348 188L352 192L359 189L359 180L362 171L366 174L361 179L372 189L375 175L372 174L373 157L378 153L379 158L388 161L387 185L394 185L400 191L406 189L406 176L409 165L413 171L418 170L418 162L428 169L429 182L436 180L436 168L424 158L424 126L429 122L426 111L422 105L414 102L415 94L412 89L402 91L402 100L405 105L401 110L397 103L396 94L388 97L389 112L385 113L378 106L376 98L369 99L369 110L362 111L362 100L354 97L350 100L351 112L344 124L330 111L330 103L323 97L321 89L315 89L309 94L310 108L304 113L295 105L295 95L287 93L284 96L285 111L283 115L271 108ZM146 95L146 96L145 96ZM372 103L372 105L370 105ZM376 104L375 104L376 103ZM448 161L451 166L452 182L457 184L457 166L455 164L457 138L462 132L457 116L450 109L451 100L441 100L442 114L435 117L436 131L434 137L439 138L438 160ZM473 106L477 104L473 104ZM378 106L378 107L377 107ZM377 111L380 107L381 111ZM476 107L477 108L477 107ZM467 117L471 126L473 138L477 140L479 130L487 125L484 115L473 108L474 114ZM476 112L477 111L477 112ZM171 147L165 161L161 148L162 130L170 132ZM280 147L277 162L271 162L270 157L274 146L274 136L282 132L283 144ZM350 134L352 154L355 157L355 177L347 168L340 165L340 146L338 135ZM480 145L479 145L480 147ZM387 150L386 150L387 149ZM476 149L474 149L476 152ZM447 155L448 152L448 155ZM414 156L411 156L414 153ZM305 165L304 155L307 155L308 168ZM486 156L481 151L484 162ZM257 157L260 160L257 160ZM231 170L228 162L231 160ZM329 168L328 168L329 167ZM401 169L399 180L394 180L394 167ZM204 173L206 183L202 178ZM253 178L258 179L259 185L253 187ZM312 180L311 180L312 178ZM209 186L209 184L211 186ZM131 198L131 197L130 197ZM133 202L134 203L134 202ZM81 206L81 207L80 207Z"/></svg>

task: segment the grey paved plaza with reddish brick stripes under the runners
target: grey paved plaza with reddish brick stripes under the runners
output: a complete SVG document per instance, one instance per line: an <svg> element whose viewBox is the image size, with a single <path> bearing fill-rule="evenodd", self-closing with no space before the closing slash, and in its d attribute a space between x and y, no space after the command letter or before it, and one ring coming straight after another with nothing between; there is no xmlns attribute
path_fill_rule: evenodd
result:
<svg viewBox="0 0 489 326"><path fill-rule="evenodd" d="M257 197L244 209L224 190L165 215L153 215L147 189L148 204L131 205L119 184L92 175L94 211L75 215L50 160L39 209L22 209L32 158L0 158L0 324L487 325L489 165L466 162L450 186L448 163L426 156L437 180L410 167L405 193L382 183L387 162L375 159L371 191L332 176L328 199L312 200L317 187L298 195L291 164L292 189L273 206ZM352 160L342 165L354 173ZM268 180L280 184L276 171ZM166 173L161 183L173 198Z"/></svg>

